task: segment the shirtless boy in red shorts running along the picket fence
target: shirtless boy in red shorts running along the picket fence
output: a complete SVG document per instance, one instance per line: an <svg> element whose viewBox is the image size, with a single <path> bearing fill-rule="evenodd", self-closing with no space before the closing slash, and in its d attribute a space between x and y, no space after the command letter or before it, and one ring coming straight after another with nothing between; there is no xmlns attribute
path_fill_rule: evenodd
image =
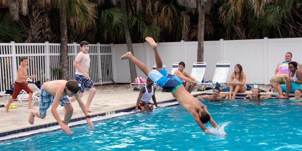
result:
<svg viewBox="0 0 302 151"><path fill-rule="evenodd" d="M20 66L18 67L17 71L17 79L14 83L14 92L11 97L11 99L8 101L8 103L5 105L5 112L8 113L9 105L17 98L18 94L24 90L28 93L28 109L35 109L31 106L31 101L33 98L33 91L31 88L28 87L28 83L26 81L27 78L36 78L36 75L31 76L25 76L27 72L28 66L27 66L27 58L21 57L20 58Z"/></svg>

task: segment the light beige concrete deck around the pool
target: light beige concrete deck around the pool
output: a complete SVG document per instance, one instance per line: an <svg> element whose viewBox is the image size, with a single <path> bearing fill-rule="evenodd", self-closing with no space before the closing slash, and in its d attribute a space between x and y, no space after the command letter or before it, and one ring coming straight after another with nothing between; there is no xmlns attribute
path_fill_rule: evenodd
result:
<svg viewBox="0 0 302 151"><path fill-rule="evenodd" d="M89 115L98 115L104 113L110 114L110 112L112 111L134 108L139 92L140 91L132 91L128 89L128 90L96 94L90 106L90 108L96 112L88 113L88 114ZM220 92L220 93L229 93L229 92ZM252 91L246 91L244 93L237 93L237 95L247 95L251 93ZM193 96L196 96L202 94L212 94L212 92L192 92L191 94ZM261 93L261 95L268 95L268 94L277 95L277 93ZM171 95L171 93L168 92L156 91L155 96L156 96L156 102L159 103L158 104L159 106L161 106L160 102L175 100L175 98ZM88 95L84 95L82 97L82 101L84 103L86 103L87 97ZM74 108L72 119L85 117L76 101L73 102L72 105ZM39 109L39 103L35 103L33 107ZM16 109L9 109L9 113L5 112L4 107L0 108L0 117L1 117L0 134L12 132L16 130L24 130L28 128L30 129L31 127L37 127L41 125L57 123L57 121L51 114L50 108L47 110L47 116L44 119L35 117L35 122L33 125L28 123L28 116L30 114L30 109L27 109L27 107L23 107L22 105L19 105L18 108ZM57 111L59 113L59 116L63 120L64 119L63 107L59 105Z"/></svg>

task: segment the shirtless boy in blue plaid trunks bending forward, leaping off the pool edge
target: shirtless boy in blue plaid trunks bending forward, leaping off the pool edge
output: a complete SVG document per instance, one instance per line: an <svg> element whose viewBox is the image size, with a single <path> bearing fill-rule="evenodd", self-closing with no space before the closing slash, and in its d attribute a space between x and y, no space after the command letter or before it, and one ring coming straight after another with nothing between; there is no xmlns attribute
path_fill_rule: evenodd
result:
<svg viewBox="0 0 302 151"><path fill-rule="evenodd" d="M74 96L78 101L80 108L84 112L87 120L87 124L93 128L93 123L90 120L90 116L88 115L85 104L82 102L81 97L79 97L79 85L75 80L55 80L45 82L40 88L40 109L38 110L31 110L31 114L28 117L28 122L30 124L34 124L34 118L39 117L44 119L46 117L46 111L51 106L51 113L53 117L58 121L59 125L62 128L62 131L67 134L72 134L73 132L67 126L73 113L73 107L71 102L69 101L69 97ZM65 108L65 116L64 122L59 117L58 112L56 109L58 105L61 105Z"/></svg>

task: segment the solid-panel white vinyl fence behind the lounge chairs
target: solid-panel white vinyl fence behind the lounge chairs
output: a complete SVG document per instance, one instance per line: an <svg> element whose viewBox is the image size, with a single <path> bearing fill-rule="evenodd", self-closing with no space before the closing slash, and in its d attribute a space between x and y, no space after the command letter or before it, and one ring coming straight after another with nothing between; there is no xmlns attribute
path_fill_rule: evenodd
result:
<svg viewBox="0 0 302 151"><path fill-rule="evenodd" d="M149 69L155 65L154 53L148 43L135 43L134 56ZM191 73L192 65L197 61L197 41L157 43L159 55L168 72L171 72L174 62L183 61L186 71ZM119 60L127 52L126 44L115 44L113 47L114 81L130 83L130 69L128 60ZM284 61L285 53L293 54L292 61L302 63L302 38L255 39L255 40L219 40L204 41L204 62L207 63L204 77L212 79L218 61L230 61L230 75L236 64L241 64L246 74L246 83L268 84L275 75L279 62ZM146 78L140 69L137 76Z"/></svg>

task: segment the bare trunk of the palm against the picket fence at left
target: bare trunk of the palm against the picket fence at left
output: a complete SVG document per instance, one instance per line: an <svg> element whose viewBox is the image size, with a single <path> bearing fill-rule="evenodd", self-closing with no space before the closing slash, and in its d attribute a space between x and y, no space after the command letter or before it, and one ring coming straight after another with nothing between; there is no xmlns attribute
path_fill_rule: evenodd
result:
<svg viewBox="0 0 302 151"><path fill-rule="evenodd" d="M62 64L62 75L61 79L70 80L69 78L69 61L68 61L68 48L67 48L67 18L66 8L64 2L61 2L60 7L60 33L61 33L61 64Z"/></svg>

